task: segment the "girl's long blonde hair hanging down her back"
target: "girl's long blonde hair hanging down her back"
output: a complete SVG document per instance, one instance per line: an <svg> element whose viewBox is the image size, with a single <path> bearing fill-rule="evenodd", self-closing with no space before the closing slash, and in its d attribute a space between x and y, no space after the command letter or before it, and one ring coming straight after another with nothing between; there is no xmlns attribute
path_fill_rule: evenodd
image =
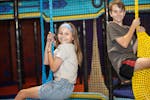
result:
<svg viewBox="0 0 150 100"><path fill-rule="evenodd" d="M67 23L67 24L69 24L71 26L72 35L73 35L73 38L74 38L72 43L75 46L75 51L76 51L76 54L77 54L78 64L79 64L79 66L81 66L83 56L82 56L82 51L81 51L80 42L79 42L79 38L78 38L78 32L77 32L77 29L75 28L75 26L72 23ZM61 25L60 25L60 27L61 27ZM58 46L59 44L60 43L59 43L59 41L57 39L56 45Z"/></svg>

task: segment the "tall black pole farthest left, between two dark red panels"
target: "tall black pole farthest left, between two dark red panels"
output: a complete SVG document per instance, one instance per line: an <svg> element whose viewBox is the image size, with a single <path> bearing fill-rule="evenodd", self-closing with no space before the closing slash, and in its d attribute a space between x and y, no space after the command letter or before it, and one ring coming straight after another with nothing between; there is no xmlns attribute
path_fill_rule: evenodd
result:
<svg viewBox="0 0 150 100"><path fill-rule="evenodd" d="M14 21L16 30L16 47L17 47L17 71L18 71L18 88L22 89L22 70L21 70L21 42L20 42L20 28L18 18L18 0L14 0Z"/></svg>

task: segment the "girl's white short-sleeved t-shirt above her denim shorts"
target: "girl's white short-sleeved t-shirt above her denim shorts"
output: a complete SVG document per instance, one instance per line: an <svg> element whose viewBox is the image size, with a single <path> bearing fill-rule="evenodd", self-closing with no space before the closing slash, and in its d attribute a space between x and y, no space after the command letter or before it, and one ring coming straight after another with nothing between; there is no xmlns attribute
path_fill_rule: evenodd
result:
<svg viewBox="0 0 150 100"><path fill-rule="evenodd" d="M54 55L63 60L59 69L54 73L54 79L67 79L70 83L76 83L78 61L75 46L72 43L60 44L54 51Z"/></svg>

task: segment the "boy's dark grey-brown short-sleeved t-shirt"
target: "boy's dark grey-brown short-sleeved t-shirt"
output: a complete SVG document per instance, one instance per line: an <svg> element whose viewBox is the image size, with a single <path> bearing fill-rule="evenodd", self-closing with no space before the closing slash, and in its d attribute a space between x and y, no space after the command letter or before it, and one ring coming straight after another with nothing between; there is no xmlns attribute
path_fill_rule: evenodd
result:
<svg viewBox="0 0 150 100"><path fill-rule="evenodd" d="M127 48L123 48L116 41L116 38L124 36L128 32L128 30L128 26L120 26L114 22L109 22L107 26L107 52L109 59L118 75L119 68L123 60L127 58L136 58L136 55L133 53L133 45L136 40L135 36L133 36L132 41ZM120 78L124 80L124 78L122 78L121 76Z"/></svg>

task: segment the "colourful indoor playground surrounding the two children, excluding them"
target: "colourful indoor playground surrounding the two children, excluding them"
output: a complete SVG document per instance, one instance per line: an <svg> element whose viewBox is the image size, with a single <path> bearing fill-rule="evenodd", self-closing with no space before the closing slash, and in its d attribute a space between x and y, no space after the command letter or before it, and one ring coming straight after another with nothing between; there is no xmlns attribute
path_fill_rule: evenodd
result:
<svg viewBox="0 0 150 100"><path fill-rule="evenodd" d="M73 94L67 100L150 100L150 69L136 71L122 84L107 55L106 33L112 0L0 0L0 100L13 100L20 89L53 80L43 64L48 32L71 22L83 53ZM150 0L122 0L124 23L140 17L138 57L150 58ZM52 50L53 51L53 50ZM32 99L28 99L32 100Z"/></svg>

